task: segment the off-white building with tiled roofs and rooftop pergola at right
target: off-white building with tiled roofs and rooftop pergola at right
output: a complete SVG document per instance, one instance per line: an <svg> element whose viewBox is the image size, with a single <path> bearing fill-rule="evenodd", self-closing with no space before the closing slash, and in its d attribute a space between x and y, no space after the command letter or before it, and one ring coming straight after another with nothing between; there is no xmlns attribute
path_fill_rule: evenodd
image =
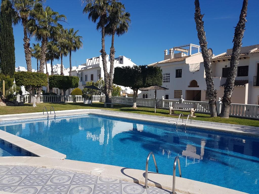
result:
<svg viewBox="0 0 259 194"><path fill-rule="evenodd" d="M186 47L188 49L184 49ZM191 54L191 49L198 48L198 53ZM175 51L179 53L175 54ZM188 55L189 53L189 55ZM241 48L241 56L236 75L232 103L259 103L259 44ZM224 84L229 69L232 49L211 59L214 87L217 98L224 95ZM163 71L163 87L166 91L157 91L157 98L208 101L206 98L205 70L199 46L188 44L164 51L164 60L150 66L159 66ZM139 98L154 98L154 91L142 91Z"/></svg>

